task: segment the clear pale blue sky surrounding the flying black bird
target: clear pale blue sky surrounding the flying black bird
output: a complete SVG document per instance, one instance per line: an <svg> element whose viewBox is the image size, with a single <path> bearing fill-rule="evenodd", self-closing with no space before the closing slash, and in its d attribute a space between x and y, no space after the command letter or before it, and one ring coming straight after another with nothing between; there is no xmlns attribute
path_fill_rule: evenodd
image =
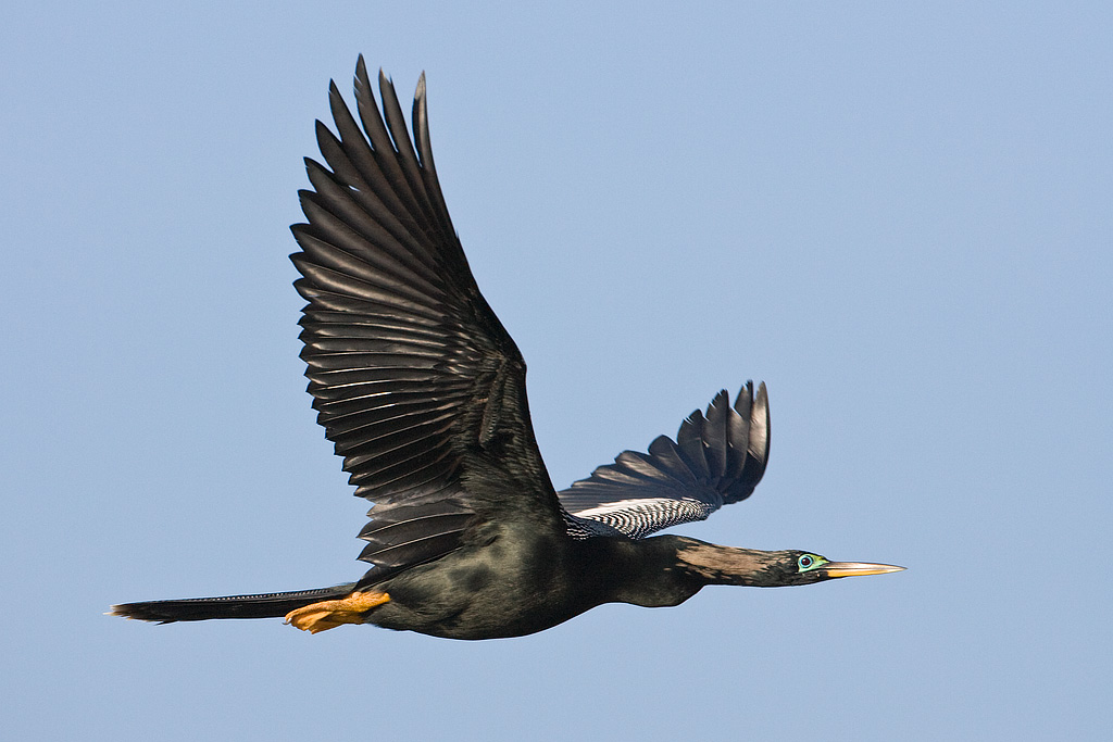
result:
<svg viewBox="0 0 1113 742"><path fill-rule="evenodd" d="M4 734L1107 739L1110 3L522 6L6 6ZM766 481L680 531L909 570L483 643L101 615L362 573L286 258L359 52L427 72L558 486L765 379Z"/></svg>

